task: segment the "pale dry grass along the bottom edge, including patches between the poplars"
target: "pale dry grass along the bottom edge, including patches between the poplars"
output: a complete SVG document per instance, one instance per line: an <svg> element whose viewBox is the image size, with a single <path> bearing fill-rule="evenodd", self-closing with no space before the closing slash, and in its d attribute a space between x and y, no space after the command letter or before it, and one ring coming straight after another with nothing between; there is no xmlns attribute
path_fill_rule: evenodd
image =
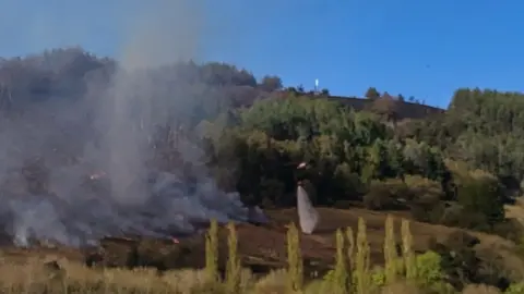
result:
<svg viewBox="0 0 524 294"><path fill-rule="evenodd" d="M46 259L49 258L33 258L24 265L0 264L0 293L224 293L221 284L212 284L206 281L204 270L181 269L164 273L152 269L95 270L68 260L60 260L61 269L53 270L45 267ZM240 293L287 293L286 285L286 270L275 270L260 279L255 279L249 270L243 270ZM303 290L303 294L323 293L326 292L321 280L309 282ZM415 286L396 283L384 287L381 293L412 294L419 292Z"/></svg>

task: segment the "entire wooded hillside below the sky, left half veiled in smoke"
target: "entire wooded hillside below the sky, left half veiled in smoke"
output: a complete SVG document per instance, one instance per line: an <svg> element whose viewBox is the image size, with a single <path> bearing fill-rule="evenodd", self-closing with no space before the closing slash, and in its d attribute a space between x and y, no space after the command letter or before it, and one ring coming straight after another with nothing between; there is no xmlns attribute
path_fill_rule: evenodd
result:
<svg viewBox="0 0 524 294"><path fill-rule="evenodd" d="M78 48L2 61L0 220L15 241L4 254L80 260L79 247L132 235L144 256L194 257L152 266L202 266L209 219L243 222L242 206L259 206L271 224L239 225L239 249L266 271L285 265L300 181L322 219L302 250L323 271L336 229L358 218L382 265L391 213L412 220L417 254L437 252L456 290L521 282L522 225L504 206L524 186L524 95L457 89L444 111L370 89L312 95L230 64L128 69ZM21 249L46 243L61 249Z"/></svg>

